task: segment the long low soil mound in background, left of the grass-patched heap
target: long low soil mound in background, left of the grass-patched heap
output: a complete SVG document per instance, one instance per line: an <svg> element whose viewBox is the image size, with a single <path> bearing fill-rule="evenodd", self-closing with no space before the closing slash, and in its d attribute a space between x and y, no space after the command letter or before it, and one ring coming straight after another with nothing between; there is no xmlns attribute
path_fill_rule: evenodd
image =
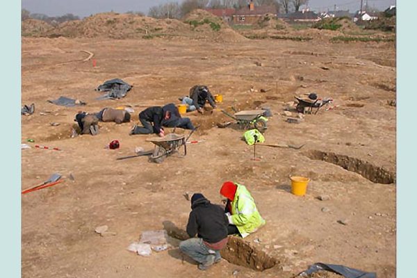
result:
<svg viewBox="0 0 417 278"><path fill-rule="evenodd" d="M69 38L142 38L147 35L170 36L189 32L189 27L176 19L154 19L140 15L101 13L83 20L64 22L49 36Z"/></svg>

